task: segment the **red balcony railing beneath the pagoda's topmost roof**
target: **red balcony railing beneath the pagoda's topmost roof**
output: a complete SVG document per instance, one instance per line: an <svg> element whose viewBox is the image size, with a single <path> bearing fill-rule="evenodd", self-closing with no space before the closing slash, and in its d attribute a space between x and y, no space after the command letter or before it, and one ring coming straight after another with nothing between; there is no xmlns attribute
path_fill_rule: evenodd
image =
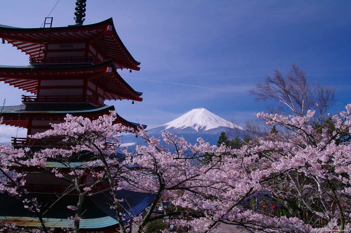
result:
<svg viewBox="0 0 351 233"><path fill-rule="evenodd" d="M29 64L35 65L60 65L60 64L97 64L101 61L96 59L96 56L64 56L64 57L46 57L44 58L29 58Z"/></svg>

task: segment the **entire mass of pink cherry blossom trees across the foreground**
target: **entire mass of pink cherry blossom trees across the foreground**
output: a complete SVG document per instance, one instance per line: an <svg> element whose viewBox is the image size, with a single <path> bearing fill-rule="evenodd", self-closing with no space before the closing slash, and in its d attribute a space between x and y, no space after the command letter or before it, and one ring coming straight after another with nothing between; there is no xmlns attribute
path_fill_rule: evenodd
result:
<svg viewBox="0 0 351 233"><path fill-rule="evenodd" d="M4 149L0 171L14 185L9 187L2 182L0 190L16 197L26 194L25 178L22 179L23 174L11 173L13 166L40 167L43 172L69 180L70 187L79 194L77 205L67 206L74 211L70 218L72 228L68 229L74 232L79 232L82 201L92 189L80 182L86 174L96 178L95 186L106 180L110 183L111 208L115 209L121 232L130 228L126 215L138 225L137 232L145 231L147 222L164 217L172 225L198 233L216 232L220 223L250 232L349 231L351 145L348 141L337 143L337 139L343 133L350 133L351 105L330 117L332 131L330 127L321 130L322 126L311 124L315 122L314 114L314 110L290 116L258 113L258 118L277 130L254 138L239 149L224 144L211 146L201 138L191 145L168 132L162 138L149 137L143 129L113 124L115 112L93 121L67 115L64 123L52 124L52 130L32 136L46 141L59 137L61 142L56 148L44 148L28 157L26 150L1 147ZM118 137L121 132L138 135L146 143L138 145L136 151L125 149L125 155L117 157L115 151L121 149ZM171 147L175 147L175 152L170 151ZM89 160L71 166L71 161L82 153ZM200 161L206 154L214 156L203 164ZM68 172L47 169L46 163L52 160ZM143 216L126 212L118 196L120 189L154 194L151 208ZM152 210L165 197L176 208L172 211L163 208L163 213L153 215ZM260 208L268 203L278 206L280 212L270 214L269 206ZM38 216L42 214L41 204L35 199L27 198L24 205L37 211ZM182 213L192 219L176 218ZM38 229L41 230L50 230L45 221Z"/></svg>

